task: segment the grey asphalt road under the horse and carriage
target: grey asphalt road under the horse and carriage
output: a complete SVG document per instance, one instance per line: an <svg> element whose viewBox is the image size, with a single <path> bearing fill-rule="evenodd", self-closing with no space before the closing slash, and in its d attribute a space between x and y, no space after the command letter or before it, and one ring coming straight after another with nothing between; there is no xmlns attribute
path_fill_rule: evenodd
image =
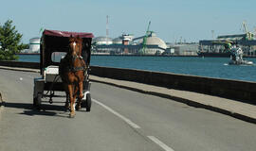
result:
<svg viewBox="0 0 256 151"><path fill-rule="evenodd" d="M170 99L92 83L91 112L32 108L35 73L0 69L0 151L255 151L256 126Z"/></svg>

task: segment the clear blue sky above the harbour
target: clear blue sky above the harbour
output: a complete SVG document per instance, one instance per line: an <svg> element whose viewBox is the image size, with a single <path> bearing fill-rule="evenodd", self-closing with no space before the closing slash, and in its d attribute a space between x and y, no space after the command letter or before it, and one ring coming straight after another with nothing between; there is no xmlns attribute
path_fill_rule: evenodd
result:
<svg viewBox="0 0 256 151"><path fill-rule="evenodd" d="M12 20L25 43L41 27L105 36L106 15L112 38L141 36L149 21L165 42L208 40L211 30L215 37L240 34L243 21L250 31L256 27L255 0L0 0L0 6L0 24Z"/></svg>

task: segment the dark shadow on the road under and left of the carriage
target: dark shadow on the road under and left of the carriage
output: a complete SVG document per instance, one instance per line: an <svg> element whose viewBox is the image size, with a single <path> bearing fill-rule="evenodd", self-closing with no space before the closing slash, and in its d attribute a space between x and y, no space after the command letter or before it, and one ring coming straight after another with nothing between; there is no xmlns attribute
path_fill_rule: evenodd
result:
<svg viewBox="0 0 256 151"><path fill-rule="evenodd" d="M11 103L5 102L5 109L14 108L14 109L24 109L22 113L27 116L34 116L34 115L43 115L43 116L61 116L66 117L62 114L65 114L66 110L64 106L57 106L57 105L45 105L43 104L40 109L36 109L33 107L32 104L28 103ZM61 112L60 112L61 111Z"/></svg>

